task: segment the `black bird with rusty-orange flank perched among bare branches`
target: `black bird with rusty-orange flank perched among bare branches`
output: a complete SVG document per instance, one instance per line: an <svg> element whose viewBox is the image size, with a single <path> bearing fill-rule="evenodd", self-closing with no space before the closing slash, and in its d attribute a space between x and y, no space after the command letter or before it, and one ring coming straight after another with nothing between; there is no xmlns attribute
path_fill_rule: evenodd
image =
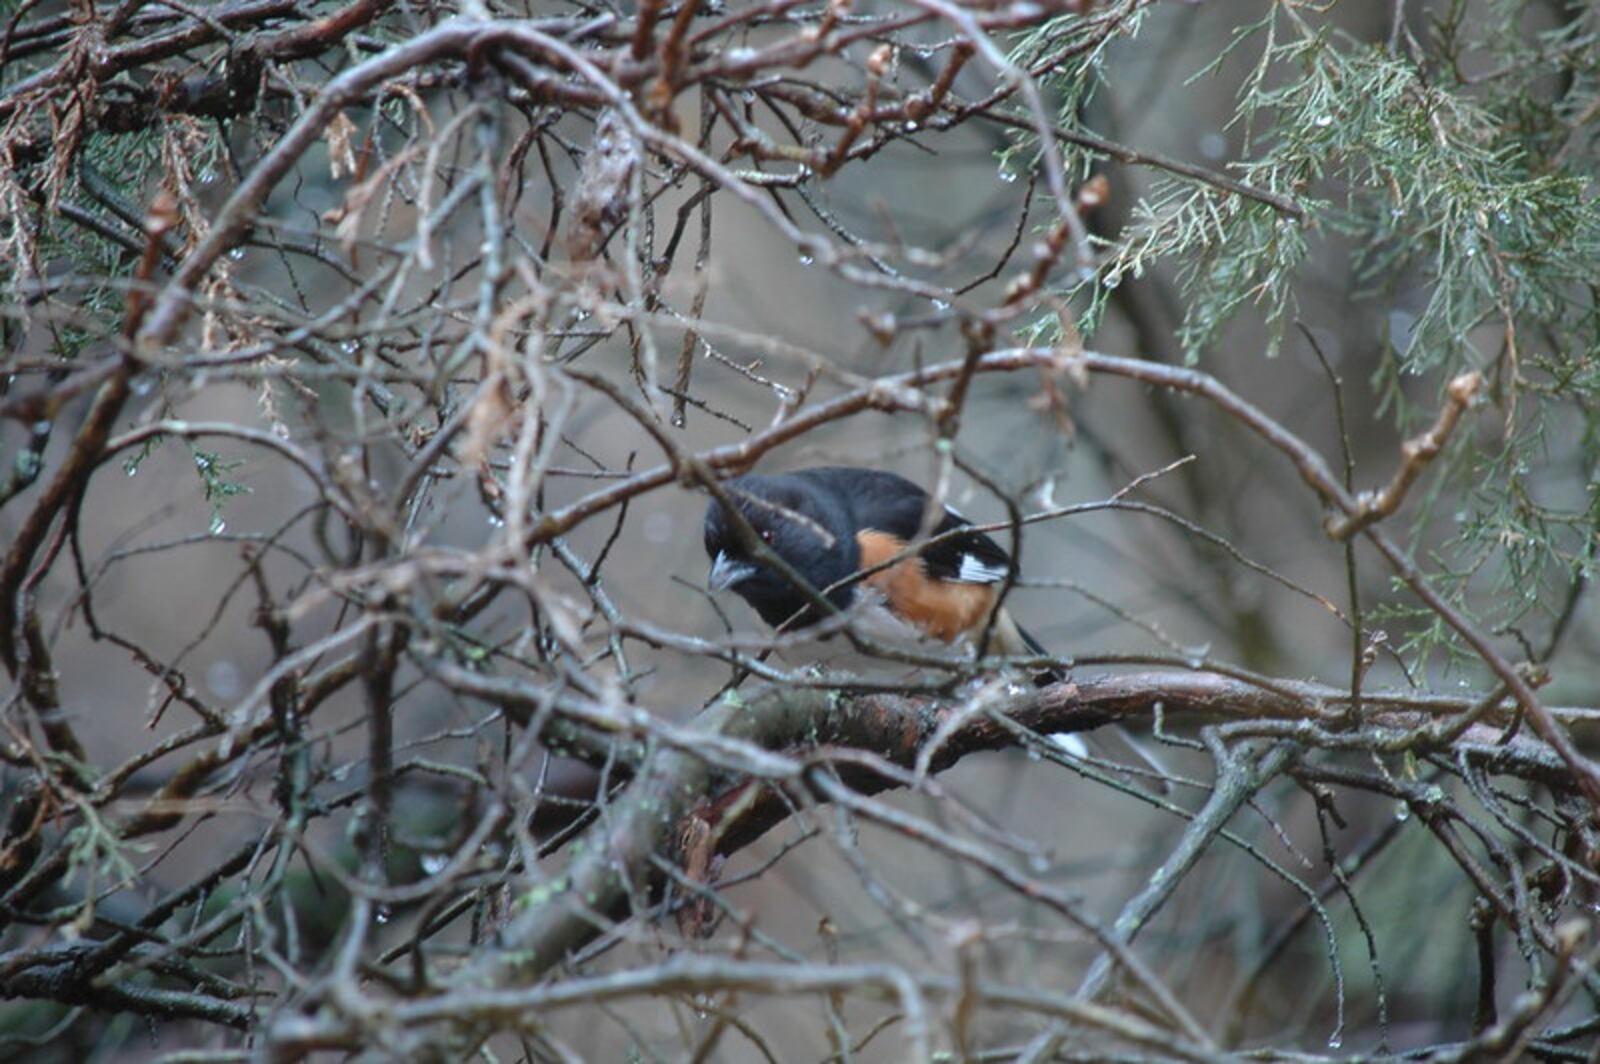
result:
<svg viewBox="0 0 1600 1064"><path fill-rule="evenodd" d="M875 642L915 642L970 654L1011 570L1000 544L896 474L832 466L734 477L723 488L755 538L792 574L763 560L749 533L712 499L706 509L710 589L734 590L784 632L824 619L819 595L838 611L850 611L856 630ZM915 552L891 562L914 542ZM794 578L810 584L813 594ZM1003 606L984 651L1046 656ZM1035 675L1040 685L1059 678L1048 669Z"/></svg>

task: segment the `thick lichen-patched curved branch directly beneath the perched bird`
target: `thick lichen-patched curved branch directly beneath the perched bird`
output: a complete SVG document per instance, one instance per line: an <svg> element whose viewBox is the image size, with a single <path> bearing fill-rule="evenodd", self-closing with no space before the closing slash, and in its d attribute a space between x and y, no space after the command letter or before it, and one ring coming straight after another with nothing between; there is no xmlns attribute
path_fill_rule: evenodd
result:
<svg viewBox="0 0 1600 1064"><path fill-rule="evenodd" d="M453 672L448 678L462 682L472 674ZM514 683L477 678L469 693L493 693L507 712L523 720L547 722L549 715L530 717L530 710L549 707L550 698ZM1174 714L1203 717L1280 718L1307 723L1344 720L1336 709L1349 699L1339 688L1299 683L1293 693L1259 686L1205 672L1147 672L1107 675L1058 683L1005 701L995 712L971 720L954 734L941 734L947 706L893 694L840 699L826 690L766 688L757 696L723 701L704 710L693 730L707 738L706 752L696 755L685 747L682 728L658 722L672 731L670 747L645 757L640 774L616 800L606 818L594 829L566 870L552 882L530 891L523 910L507 925L501 947L480 954L453 982L456 986L506 986L538 978L558 963L570 950L598 936L608 925L608 914L626 909L632 891L653 886L659 874L650 856L659 848L677 848L674 834L688 838L683 829L690 818L712 822L710 837L720 853L734 853L763 835L789 816L790 806L766 784L750 782L749 774L718 768L707 754L722 744L747 742L765 750L794 750L811 762L827 762L829 750L874 750L886 762L904 768L917 763L922 746L939 736L941 746L931 758L933 771L944 771L981 750L997 750L1016 744L1016 726L1037 733L1088 731L1133 715L1150 714L1155 706ZM560 701L560 699L557 699ZM1381 693L1363 693L1368 712L1365 722L1373 741L1382 741L1382 730L1406 728L1419 712L1413 696L1386 699ZM1432 704L1434 712L1466 712L1467 699ZM1584 712L1584 710L1578 710ZM1501 712L1501 718L1506 712ZM613 717L614 720L614 717ZM643 717L637 726L650 726ZM550 733L560 739L558 733ZM1496 746L1494 731L1480 725L1464 736L1462 747L1475 757L1498 758L1502 771L1522 773L1552 784L1571 782L1562 763L1533 739L1518 738ZM1418 742L1424 733L1418 733ZM731 747L725 747L731 749ZM768 755L771 757L771 755ZM794 778L792 760L752 765L765 779ZM840 765L840 776L861 794L874 794L904 786L904 778L872 773L851 758ZM752 797L747 789L755 786ZM650 891L642 891L648 894Z"/></svg>

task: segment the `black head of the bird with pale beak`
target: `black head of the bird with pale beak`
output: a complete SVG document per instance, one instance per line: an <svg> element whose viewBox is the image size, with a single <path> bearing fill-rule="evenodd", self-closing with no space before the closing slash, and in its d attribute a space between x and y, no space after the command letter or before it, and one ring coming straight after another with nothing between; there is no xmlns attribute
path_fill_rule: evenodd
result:
<svg viewBox="0 0 1600 1064"><path fill-rule="evenodd" d="M723 488L755 538L818 592L856 571L861 547L850 531L848 502L837 493L802 474L734 477ZM706 507L706 555L712 562L710 589L733 589L768 624L789 621L797 627L821 619L794 581L757 557L718 499ZM827 598L843 610L853 595L854 587L845 586Z"/></svg>

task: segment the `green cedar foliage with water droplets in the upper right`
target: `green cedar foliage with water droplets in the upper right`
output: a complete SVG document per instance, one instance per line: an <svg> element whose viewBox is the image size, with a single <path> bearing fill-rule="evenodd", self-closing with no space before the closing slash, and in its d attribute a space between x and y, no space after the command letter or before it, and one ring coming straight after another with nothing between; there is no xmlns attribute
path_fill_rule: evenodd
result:
<svg viewBox="0 0 1600 1064"><path fill-rule="evenodd" d="M1205 366L1242 315L1258 315L1259 355L1272 357L1299 317L1298 293L1326 272L1322 256L1349 250L1350 299L1403 293L1410 307L1389 318L1371 402L1416 432L1451 378L1482 370L1499 414L1458 432L1392 520L1410 518L1419 563L1491 629L1549 629L1594 576L1600 530L1600 14L1581 3L1413 3L1402 32L1358 40L1336 27L1339 5L1262 6L1192 77L1253 58L1234 86L1229 131L1243 150L1226 173L1302 216L1155 178L1123 230L1106 235L1098 275L1069 288L1085 334L1117 285L1163 270L1182 299L1178 341L1190 363ZM1086 130L1085 101L1115 83L1109 46L1138 48L1142 14L1094 5L1018 45L1030 69L1050 48L1078 45L1043 75L1062 126ZM1035 150L1024 138L1008 154ZM1070 154L1078 173L1099 162ZM1051 328L1042 320L1035 334ZM1405 637L1413 654L1459 653L1429 611L1384 608L1419 622Z"/></svg>

